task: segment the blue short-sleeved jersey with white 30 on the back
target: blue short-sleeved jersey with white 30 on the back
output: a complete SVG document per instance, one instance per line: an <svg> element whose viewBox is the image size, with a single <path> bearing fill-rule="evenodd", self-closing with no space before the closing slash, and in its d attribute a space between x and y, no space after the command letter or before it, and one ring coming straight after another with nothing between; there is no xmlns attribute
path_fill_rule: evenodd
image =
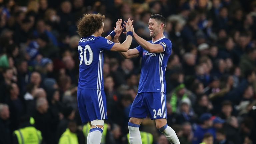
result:
<svg viewBox="0 0 256 144"><path fill-rule="evenodd" d="M78 56L80 60L77 89L104 90L103 53L110 50L114 43L103 37L93 35L79 40Z"/></svg>

